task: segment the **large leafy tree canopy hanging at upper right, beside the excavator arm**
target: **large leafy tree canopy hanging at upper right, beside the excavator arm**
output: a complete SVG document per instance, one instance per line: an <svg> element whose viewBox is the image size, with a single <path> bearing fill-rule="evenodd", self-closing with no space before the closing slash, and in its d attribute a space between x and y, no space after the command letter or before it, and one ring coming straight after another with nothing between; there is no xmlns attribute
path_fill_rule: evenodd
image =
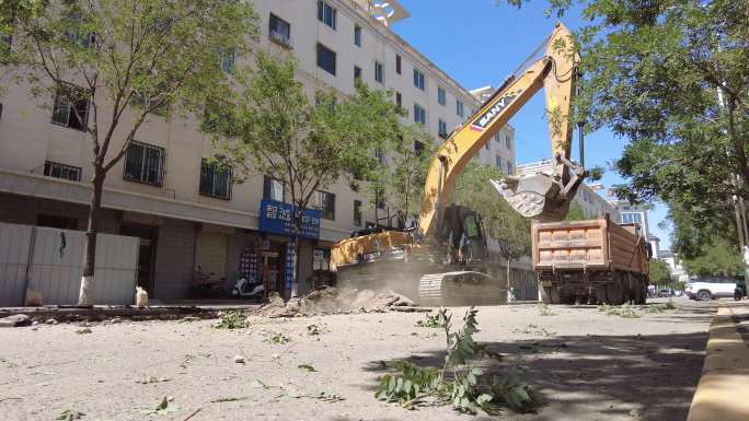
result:
<svg viewBox="0 0 749 421"><path fill-rule="evenodd" d="M521 0L509 0L520 4ZM749 2L586 0L578 110L630 141L621 198L660 198L700 225L749 199ZM562 15L572 0L550 0Z"/></svg>

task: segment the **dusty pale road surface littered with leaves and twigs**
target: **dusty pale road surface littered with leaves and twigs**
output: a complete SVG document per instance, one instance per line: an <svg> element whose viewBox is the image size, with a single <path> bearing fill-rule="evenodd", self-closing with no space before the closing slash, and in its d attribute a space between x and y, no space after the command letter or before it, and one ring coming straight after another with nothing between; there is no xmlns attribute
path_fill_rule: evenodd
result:
<svg viewBox="0 0 749 421"><path fill-rule="evenodd" d="M683 420L704 358L715 303L641 318L590 306L480 307L479 341L506 355L545 404L506 420ZM465 308L454 308L459 319ZM0 330L0 419L55 420L486 420L450 408L407 411L373 397L389 361L438 365L445 338L416 327L424 314L269 319L240 330L212 320L39 325ZM315 325L319 335L309 335ZM82 330L85 331L85 330ZM285 344L268 338L283 334ZM279 337L278 337L279 338ZM235 355L244 363L234 362ZM299 369L313 366L315 372ZM323 400L325 393L343 400ZM148 416L170 396L175 412ZM198 411L197 413L195 413Z"/></svg>

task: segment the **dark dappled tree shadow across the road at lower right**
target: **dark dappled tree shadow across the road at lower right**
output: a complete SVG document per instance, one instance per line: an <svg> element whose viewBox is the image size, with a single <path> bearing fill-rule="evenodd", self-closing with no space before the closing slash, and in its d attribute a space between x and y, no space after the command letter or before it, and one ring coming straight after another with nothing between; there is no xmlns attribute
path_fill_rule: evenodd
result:
<svg viewBox="0 0 749 421"><path fill-rule="evenodd" d="M700 378L706 340L707 332L560 336L488 347L506 355L499 371L517 366L545 401L538 413L517 419L682 421ZM404 360L441 366L443 358L443 351L434 351ZM365 370L385 373L389 363L372 361ZM637 412L631 413L633 409Z"/></svg>

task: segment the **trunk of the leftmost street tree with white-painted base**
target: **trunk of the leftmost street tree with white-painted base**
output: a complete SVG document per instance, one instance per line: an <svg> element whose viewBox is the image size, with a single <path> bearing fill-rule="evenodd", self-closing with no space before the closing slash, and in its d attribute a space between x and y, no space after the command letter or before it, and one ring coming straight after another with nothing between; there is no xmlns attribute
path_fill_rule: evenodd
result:
<svg viewBox="0 0 749 421"><path fill-rule="evenodd" d="M93 192L89 207L89 225L85 231L85 252L83 256L83 277L78 293L78 305L92 305L94 288L94 268L96 266L96 233L99 231L99 212L102 208L104 190L103 168L94 167Z"/></svg>

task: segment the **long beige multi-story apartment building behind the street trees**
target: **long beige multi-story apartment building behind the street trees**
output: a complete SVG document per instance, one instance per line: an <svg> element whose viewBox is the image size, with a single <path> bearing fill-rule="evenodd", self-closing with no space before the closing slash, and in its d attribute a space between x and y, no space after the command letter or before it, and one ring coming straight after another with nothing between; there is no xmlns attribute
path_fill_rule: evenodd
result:
<svg viewBox="0 0 749 421"><path fill-rule="evenodd" d="M407 17L396 1L254 0L254 5L261 28L257 48L293 55L297 77L310 95L318 89L353 93L356 79L392 90L394 101L408 112L408 122L424 125L436 142L480 106L391 30ZM88 104L50 98L53 109L45 109L27 86L5 87L0 96L0 222L84 230L91 144L70 118L70 107L85 109ZM196 126L175 117L153 118L141 128L137 142L107 175L101 231L141 238L138 283L157 300L188 296L196 272L228 283L240 276L260 277L272 290L288 292L291 238L260 218L283 210L288 198L281 186L262 174L237 184L230 174L211 172L203 161L212 154L211 142ZM494 164L502 156L504 169L511 173L511 128L483 156ZM371 202L346 183L318 192L319 234L298 250L300 292L330 277L333 242L378 222Z"/></svg>

